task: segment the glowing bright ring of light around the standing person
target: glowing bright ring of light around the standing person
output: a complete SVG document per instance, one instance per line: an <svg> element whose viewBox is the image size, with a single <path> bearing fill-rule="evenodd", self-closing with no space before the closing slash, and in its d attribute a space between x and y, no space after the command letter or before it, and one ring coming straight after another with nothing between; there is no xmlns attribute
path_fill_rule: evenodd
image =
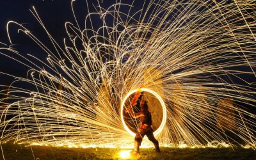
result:
<svg viewBox="0 0 256 160"><path fill-rule="evenodd" d="M166 124L166 106L164 104L164 100L161 98L161 96L159 94L157 94L156 92L154 92L153 90L150 90L148 88L141 88L141 90L143 92L149 92L152 93L152 95L154 95L160 102L162 109L163 109L163 119L162 122L160 124L160 126L157 128L156 131L154 131L154 135L157 136L164 128L164 125ZM123 109L124 109L124 104L125 104L125 100L127 100L127 98L132 94L137 92L137 90L132 90L131 92L129 92L125 97L124 100L122 101L122 105L121 105L121 119L122 119L122 124L124 125L124 128L127 132L129 132L129 134L131 134L132 136L135 136L135 133L132 132L129 127L127 127L127 125L124 122L124 114L123 114Z"/></svg>

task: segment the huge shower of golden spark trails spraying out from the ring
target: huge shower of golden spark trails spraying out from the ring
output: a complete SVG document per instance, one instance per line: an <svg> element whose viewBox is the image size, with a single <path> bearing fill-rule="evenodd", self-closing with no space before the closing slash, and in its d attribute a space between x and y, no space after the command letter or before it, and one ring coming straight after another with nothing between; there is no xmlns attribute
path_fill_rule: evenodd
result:
<svg viewBox="0 0 256 160"><path fill-rule="evenodd" d="M141 10L134 10L135 3L100 4L84 28L73 10L65 47L35 8L31 13L51 45L8 22L7 29L19 26L48 56L42 60L1 44L0 54L29 68L27 77L15 77L1 91L10 102L1 99L2 143L132 147L120 108L143 84L166 106L166 124L157 135L161 146L255 147L256 116L245 106L255 102L256 1L145 1ZM13 37L8 33L11 44ZM20 87L24 83L29 87Z"/></svg>

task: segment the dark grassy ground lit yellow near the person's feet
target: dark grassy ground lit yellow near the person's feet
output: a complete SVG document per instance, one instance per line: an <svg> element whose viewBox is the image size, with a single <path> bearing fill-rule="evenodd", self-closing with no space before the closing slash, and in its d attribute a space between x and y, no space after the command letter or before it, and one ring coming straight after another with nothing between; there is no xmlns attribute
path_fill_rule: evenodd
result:
<svg viewBox="0 0 256 160"><path fill-rule="evenodd" d="M4 159L122 159L120 148L25 147L3 144ZM33 152L32 152L33 150ZM127 149L129 150L129 149ZM0 159L3 159L2 152ZM128 159L256 159L256 150L245 148L163 148L161 153L142 148Z"/></svg>

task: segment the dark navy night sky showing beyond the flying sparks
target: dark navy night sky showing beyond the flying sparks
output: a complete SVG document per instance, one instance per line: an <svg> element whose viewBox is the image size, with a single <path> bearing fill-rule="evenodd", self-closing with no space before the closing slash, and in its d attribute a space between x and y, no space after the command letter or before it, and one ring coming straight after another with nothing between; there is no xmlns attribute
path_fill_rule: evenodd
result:
<svg viewBox="0 0 256 160"><path fill-rule="evenodd" d="M88 6L90 6L90 12L95 12L95 6L97 7L97 1L88 0ZM116 1L107 1L103 0L103 3L100 1L100 6L103 8L108 8L112 4L115 4ZM131 3L131 1L122 1L122 3ZM136 2L132 12L136 12L141 8L143 1ZM37 22L36 18L29 11L32 7L35 6L36 11L38 12L40 18L44 22L45 27L48 29L49 33L54 37L56 42L63 47L63 38L68 38L67 33L65 32L65 22L72 22L75 24L75 20L71 8L71 0L8 0L0 2L0 42L10 45L8 42L8 37L6 33L6 24L9 20L16 21L20 24L23 24L24 27L28 28L33 35L38 37L46 45L51 45L51 41L47 37L42 26ZM124 8L125 9L125 8ZM76 12L76 17L79 22L79 26L84 28L84 19L88 14L86 0L76 0L74 3L74 10ZM125 11L124 11L125 12ZM100 20L99 20L100 21ZM97 24L97 20L94 20L93 26L99 27L101 22ZM19 29L15 24L10 26L10 35L14 44L14 48L20 52L20 54L33 54L37 58L44 60L47 57L47 54L38 47L38 45L33 42L28 36L24 33L17 33ZM3 45L1 45L3 47ZM4 52L13 56L13 53ZM15 56L16 58L17 56ZM20 59L22 60L22 59ZM248 68L245 68L247 70ZM26 77L28 67L19 64L17 61L11 60L6 56L0 54L0 72L6 72L15 76ZM253 76L244 76L246 79L255 79ZM0 84L9 83L13 81L12 78L0 74Z"/></svg>

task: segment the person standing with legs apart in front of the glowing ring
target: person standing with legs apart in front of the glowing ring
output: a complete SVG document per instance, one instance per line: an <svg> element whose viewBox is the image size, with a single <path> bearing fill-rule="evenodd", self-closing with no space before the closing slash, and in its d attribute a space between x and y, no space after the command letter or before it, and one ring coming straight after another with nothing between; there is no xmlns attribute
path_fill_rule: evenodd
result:
<svg viewBox="0 0 256 160"><path fill-rule="evenodd" d="M136 105L136 101L139 98L138 95L141 97L140 99L141 109L139 113L134 113L131 107ZM143 137L145 135L148 137L148 140L154 143L156 152L160 152L159 143L153 134L151 113L150 111L148 111L147 101L144 99L144 95L143 95L143 92L141 92L141 90L135 93L134 99L132 99L132 102L131 102L131 106L127 108L127 112L129 112L133 118L140 118L140 121L141 121L140 128L136 132L136 136L134 138L133 154L139 154L141 141L143 140Z"/></svg>

